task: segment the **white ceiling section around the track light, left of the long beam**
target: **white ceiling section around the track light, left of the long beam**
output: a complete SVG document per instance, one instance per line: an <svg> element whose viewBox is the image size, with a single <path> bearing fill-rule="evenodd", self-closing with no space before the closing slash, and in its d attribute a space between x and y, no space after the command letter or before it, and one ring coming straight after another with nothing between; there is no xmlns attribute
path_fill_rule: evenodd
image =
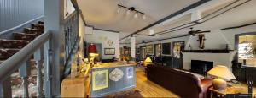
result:
<svg viewBox="0 0 256 98"><path fill-rule="evenodd" d="M200 0L77 0L87 24L99 29L120 31L120 38L198 1ZM140 14L134 19L135 13L125 15L125 8L117 13L118 4L128 8L135 7L145 13L147 18L142 19Z"/></svg>

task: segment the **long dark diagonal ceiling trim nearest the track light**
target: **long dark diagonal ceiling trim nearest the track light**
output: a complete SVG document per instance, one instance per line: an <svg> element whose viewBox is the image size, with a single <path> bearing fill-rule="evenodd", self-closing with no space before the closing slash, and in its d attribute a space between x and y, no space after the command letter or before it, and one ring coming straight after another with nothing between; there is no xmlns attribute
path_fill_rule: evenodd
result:
<svg viewBox="0 0 256 98"><path fill-rule="evenodd" d="M125 36L125 37L119 39L119 41L121 41L121 40L123 40L123 39L125 39L126 37L129 37L129 36L131 36L131 35L137 34L137 33L141 32L141 31L143 31L143 30L146 30L146 29L148 29L148 28L150 28L150 27L152 27L152 26L154 26L154 25L156 25L156 24L160 24L161 22L164 22L164 21L166 21L167 19L171 19L171 18L173 18L173 17L175 17L175 16L177 16L177 15L179 15L179 14L183 14L184 12L186 12L186 11L192 9L192 8L198 7L198 6L200 6L201 4L207 3L207 2L209 2L209 1L211 1L211 0L201 0L201 1L199 1L199 2L193 3L193 4L189 5L189 6L186 7L186 8L183 8L183 9L181 9L181 10L179 10L179 11L173 13L173 14L170 14L169 16L167 16L167 17L165 17L165 18L163 18L163 19L160 19L160 20L154 22L153 24L149 24L148 26L144 27L144 28L141 29L141 30L137 30L136 32L134 32L134 33L132 33L132 34L127 35L127 36Z"/></svg>

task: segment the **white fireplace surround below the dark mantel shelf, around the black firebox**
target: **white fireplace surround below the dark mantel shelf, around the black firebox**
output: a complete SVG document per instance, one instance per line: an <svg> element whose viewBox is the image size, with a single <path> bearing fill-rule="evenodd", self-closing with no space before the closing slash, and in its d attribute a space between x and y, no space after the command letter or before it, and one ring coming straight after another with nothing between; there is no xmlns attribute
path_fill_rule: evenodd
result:
<svg viewBox="0 0 256 98"><path fill-rule="evenodd" d="M191 60L211 61L213 66L225 65L231 69L231 61L237 51L221 52L183 52L183 69L191 69Z"/></svg>

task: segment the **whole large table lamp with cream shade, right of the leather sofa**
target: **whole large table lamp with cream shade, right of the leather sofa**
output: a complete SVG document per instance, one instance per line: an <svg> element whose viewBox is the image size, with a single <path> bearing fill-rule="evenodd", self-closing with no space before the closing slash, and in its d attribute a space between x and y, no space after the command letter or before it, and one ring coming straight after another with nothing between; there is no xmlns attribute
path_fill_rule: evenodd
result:
<svg viewBox="0 0 256 98"><path fill-rule="evenodd" d="M210 71L207 72L209 75L216 77L212 80L213 88L215 90L224 91L227 87L227 81L236 79L234 74L230 72L230 69L223 65L216 65Z"/></svg>

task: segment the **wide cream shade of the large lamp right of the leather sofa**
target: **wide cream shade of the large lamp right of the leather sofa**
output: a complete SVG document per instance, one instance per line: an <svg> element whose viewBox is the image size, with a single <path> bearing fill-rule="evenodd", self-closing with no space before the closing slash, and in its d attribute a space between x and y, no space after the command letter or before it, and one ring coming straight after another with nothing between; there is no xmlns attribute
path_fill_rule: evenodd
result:
<svg viewBox="0 0 256 98"><path fill-rule="evenodd" d="M225 80L236 79L234 74L230 72L230 69L223 65L217 65L207 73L209 75L212 75L221 79L225 79Z"/></svg>

